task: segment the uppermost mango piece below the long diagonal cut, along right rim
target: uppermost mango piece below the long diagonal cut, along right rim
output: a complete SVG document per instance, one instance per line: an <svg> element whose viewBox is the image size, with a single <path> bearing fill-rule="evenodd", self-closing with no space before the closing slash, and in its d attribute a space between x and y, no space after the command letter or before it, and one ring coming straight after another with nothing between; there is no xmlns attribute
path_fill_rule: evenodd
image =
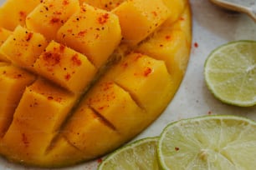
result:
<svg viewBox="0 0 256 170"><path fill-rule="evenodd" d="M191 44L191 26L187 18L190 9L186 10L176 23L167 25L157 32L151 40L141 43L137 51L166 62L168 72L175 79L177 85L186 71ZM185 27L183 24L187 24Z"/></svg>

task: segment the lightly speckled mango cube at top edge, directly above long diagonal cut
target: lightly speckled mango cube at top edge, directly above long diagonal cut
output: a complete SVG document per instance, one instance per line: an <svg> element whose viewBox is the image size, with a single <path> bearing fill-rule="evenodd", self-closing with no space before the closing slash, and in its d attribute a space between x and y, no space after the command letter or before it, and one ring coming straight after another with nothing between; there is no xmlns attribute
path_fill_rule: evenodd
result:
<svg viewBox="0 0 256 170"><path fill-rule="evenodd" d="M136 45L156 30L170 16L161 0L125 1L113 10L119 19L125 42Z"/></svg>

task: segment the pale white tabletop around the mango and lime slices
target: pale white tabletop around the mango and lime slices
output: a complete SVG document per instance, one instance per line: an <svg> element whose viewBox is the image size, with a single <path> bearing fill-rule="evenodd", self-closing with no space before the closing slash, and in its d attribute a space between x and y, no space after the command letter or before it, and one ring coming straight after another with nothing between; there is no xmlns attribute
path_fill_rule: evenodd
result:
<svg viewBox="0 0 256 170"><path fill-rule="evenodd" d="M0 2L3 3L3 1ZM191 4L193 13L192 53L182 86L161 117L136 139L157 136L168 123L188 117L232 114L256 120L256 107L233 107L219 102L212 97L203 80L203 64L209 52L225 42L241 39L256 40L256 23L244 14L225 11L207 0L191 0ZM195 47L194 43L197 43L198 47ZM94 170L97 164L95 161L80 164L74 168L62 169ZM35 168L24 168L0 159L0 169Z"/></svg>

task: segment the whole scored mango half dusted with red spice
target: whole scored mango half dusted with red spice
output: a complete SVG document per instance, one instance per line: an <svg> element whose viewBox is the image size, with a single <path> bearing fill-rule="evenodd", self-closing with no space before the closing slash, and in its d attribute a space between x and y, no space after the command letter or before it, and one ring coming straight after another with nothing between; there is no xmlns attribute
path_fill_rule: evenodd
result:
<svg viewBox="0 0 256 170"><path fill-rule="evenodd" d="M171 101L190 45L187 0L7 0L0 153L64 167L120 147Z"/></svg>

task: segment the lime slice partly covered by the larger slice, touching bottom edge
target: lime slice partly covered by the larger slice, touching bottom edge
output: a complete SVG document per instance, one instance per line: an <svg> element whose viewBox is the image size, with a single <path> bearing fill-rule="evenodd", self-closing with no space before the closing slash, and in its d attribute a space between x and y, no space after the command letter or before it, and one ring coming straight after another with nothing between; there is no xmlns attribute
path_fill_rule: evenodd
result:
<svg viewBox="0 0 256 170"><path fill-rule="evenodd" d="M157 170L158 138L144 138L111 153L98 170Z"/></svg>

